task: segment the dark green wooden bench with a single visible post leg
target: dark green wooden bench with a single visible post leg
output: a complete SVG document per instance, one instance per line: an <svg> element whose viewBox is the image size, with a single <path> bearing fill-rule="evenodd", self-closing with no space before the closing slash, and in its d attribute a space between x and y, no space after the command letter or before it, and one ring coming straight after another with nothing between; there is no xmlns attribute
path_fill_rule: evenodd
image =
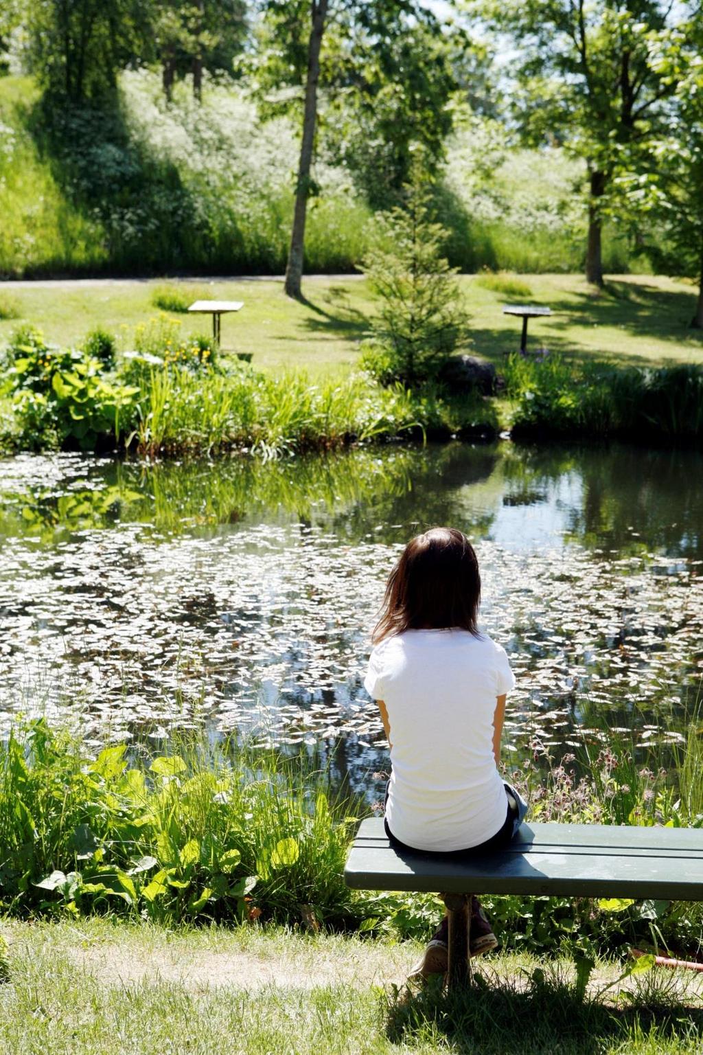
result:
<svg viewBox="0 0 703 1055"><path fill-rule="evenodd" d="M359 826L345 880L360 890L443 891L447 981L456 987L470 979L471 895L703 901L703 830L525 823L500 853L445 857L395 849L383 818L371 818Z"/></svg>

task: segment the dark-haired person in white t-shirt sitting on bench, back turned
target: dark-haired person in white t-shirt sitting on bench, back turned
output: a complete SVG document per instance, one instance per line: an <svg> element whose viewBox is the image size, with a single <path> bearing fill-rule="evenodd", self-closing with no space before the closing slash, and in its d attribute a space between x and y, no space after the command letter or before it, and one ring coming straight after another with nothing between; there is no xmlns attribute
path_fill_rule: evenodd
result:
<svg viewBox="0 0 703 1055"><path fill-rule="evenodd" d="M411 539L391 572L364 682L391 751L386 831L406 849L465 855L502 849L527 810L499 773L505 650L476 627L481 576L453 528ZM477 898L470 953L497 946ZM411 978L447 970L447 918Z"/></svg>

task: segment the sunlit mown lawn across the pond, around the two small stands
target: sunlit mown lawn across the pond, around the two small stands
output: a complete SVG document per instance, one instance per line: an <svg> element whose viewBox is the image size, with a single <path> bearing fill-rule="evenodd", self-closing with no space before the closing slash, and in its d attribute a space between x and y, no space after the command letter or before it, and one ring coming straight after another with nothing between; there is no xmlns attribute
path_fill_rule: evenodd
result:
<svg viewBox="0 0 703 1055"><path fill-rule="evenodd" d="M516 283L516 284L515 284ZM521 321L504 316L504 304L531 301L554 314L531 320L528 344L545 345L577 358L598 357L621 365L703 362L703 334L690 330L695 287L684 280L620 275L598 292L578 275L463 275L470 314L472 349L500 363L519 345ZM32 322L59 344L80 340L102 326L119 333L125 346L134 327L157 313L154 290L165 282L4 283L0 304L11 300L20 319L0 321L0 341L21 322ZM177 285L169 282L169 285ZM222 345L252 351L265 369L305 366L312 375L346 371L367 332L373 302L364 280L308 279L306 304L290 301L278 281L183 281L194 296L240 300L237 315L222 319ZM490 288L489 288L490 287ZM184 333L210 331L210 318L175 315Z"/></svg>

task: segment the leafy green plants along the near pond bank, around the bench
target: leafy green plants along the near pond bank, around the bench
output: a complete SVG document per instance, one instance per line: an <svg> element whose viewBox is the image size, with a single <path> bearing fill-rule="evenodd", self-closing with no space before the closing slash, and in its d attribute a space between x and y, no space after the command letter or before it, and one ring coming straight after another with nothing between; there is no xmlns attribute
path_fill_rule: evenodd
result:
<svg viewBox="0 0 703 1055"><path fill-rule="evenodd" d="M695 771L698 737L679 761ZM567 765L511 772L532 817L700 825L700 781L681 794L650 749L603 730ZM96 748L44 720L0 741L0 907L11 916L124 915L167 923L267 921L426 938L432 895L349 890L343 869L370 807L335 786L315 752L251 750L181 733ZM658 945L696 958L698 905L487 897L504 947L599 954Z"/></svg>

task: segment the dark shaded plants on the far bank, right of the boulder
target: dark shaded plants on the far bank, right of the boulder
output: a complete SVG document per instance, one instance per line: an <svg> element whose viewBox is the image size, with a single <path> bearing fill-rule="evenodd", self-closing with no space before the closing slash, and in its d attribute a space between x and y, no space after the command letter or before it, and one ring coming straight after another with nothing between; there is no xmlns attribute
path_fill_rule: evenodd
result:
<svg viewBox="0 0 703 1055"><path fill-rule="evenodd" d="M619 369L559 356L544 362L514 356L506 381L518 400L515 436L627 436L655 443L703 437L700 366Z"/></svg>

